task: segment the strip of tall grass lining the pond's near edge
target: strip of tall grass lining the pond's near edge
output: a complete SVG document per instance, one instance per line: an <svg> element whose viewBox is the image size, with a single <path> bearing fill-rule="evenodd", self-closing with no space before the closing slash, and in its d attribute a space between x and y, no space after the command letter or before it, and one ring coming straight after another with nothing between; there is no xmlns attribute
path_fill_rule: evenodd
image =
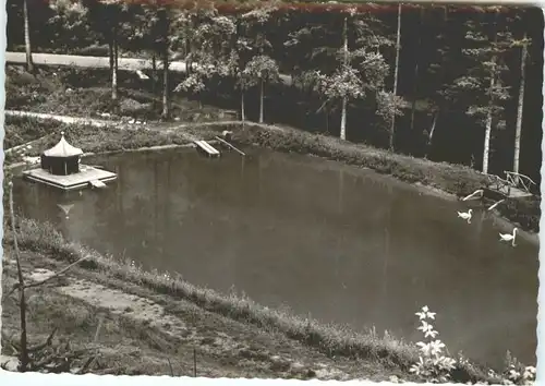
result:
<svg viewBox="0 0 545 386"><path fill-rule="evenodd" d="M8 232L7 240L9 237ZM82 245L68 242L48 224L22 219L19 224L19 240L21 248L27 253L62 262L64 265L84 255L88 256L81 263L81 268L97 274L94 281L99 280L108 286L117 282L117 286L125 292L134 291L132 287L146 289L157 295L166 297L164 298L166 304L174 300L184 300L197 305L204 312L237 321L266 334L280 334L290 341L302 345L305 350L335 360L338 365L343 365L343 369L360 366L370 371L375 366L379 369L375 369L377 372L399 374L404 379L415 378L409 373L409 367L417 359L415 346L391 336L378 336L374 331L358 334L350 329L323 325L311 318L296 317L283 311L264 307L234 293L223 295L193 286L180 277L144 272L130 262L113 256L106 257ZM460 365L452 376L456 382L494 381L486 375L484 369L472 364Z"/></svg>

